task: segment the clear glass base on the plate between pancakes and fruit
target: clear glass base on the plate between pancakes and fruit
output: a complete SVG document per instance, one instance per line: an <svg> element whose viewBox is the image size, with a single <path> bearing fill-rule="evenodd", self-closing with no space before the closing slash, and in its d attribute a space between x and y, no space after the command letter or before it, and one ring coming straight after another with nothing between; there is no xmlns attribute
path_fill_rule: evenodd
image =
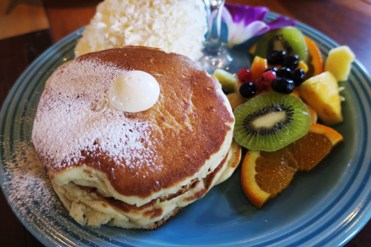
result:
<svg viewBox="0 0 371 247"><path fill-rule="evenodd" d="M233 58L223 46L221 46L216 53L210 53L203 50L203 54L203 57L198 60L198 65L201 69L206 70L210 75L218 68L224 70L230 69Z"/></svg>

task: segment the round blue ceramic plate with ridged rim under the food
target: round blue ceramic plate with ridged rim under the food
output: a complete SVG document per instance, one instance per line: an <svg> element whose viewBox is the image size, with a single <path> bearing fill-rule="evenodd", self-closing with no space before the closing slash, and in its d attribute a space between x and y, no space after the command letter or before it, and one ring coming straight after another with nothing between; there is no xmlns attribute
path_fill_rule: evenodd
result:
<svg viewBox="0 0 371 247"><path fill-rule="evenodd" d="M268 20L276 18L270 13ZM324 57L337 43L304 24ZM79 30L43 53L17 80L0 115L0 181L14 213L46 246L341 246L371 218L371 80L356 60L342 83L344 142L261 210L243 196L237 171L154 231L82 227L69 217L30 142L46 79L73 59ZM245 51L246 52L246 51ZM243 65L241 65L243 66ZM246 66L246 65L245 65Z"/></svg>

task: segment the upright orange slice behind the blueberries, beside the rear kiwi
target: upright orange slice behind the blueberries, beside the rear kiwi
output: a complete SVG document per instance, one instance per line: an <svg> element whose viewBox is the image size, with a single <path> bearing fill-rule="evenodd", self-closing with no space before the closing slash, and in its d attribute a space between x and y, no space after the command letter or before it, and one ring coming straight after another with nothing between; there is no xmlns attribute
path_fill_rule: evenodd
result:
<svg viewBox="0 0 371 247"><path fill-rule="evenodd" d="M306 47L308 48L308 72L306 78L319 75L323 72L324 62L321 51L316 43L307 36L304 36Z"/></svg>

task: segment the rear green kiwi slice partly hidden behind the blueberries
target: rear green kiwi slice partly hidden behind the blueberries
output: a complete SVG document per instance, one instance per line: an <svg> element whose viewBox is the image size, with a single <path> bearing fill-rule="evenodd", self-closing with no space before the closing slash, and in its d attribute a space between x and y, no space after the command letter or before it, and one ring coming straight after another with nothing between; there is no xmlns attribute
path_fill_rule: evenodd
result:
<svg viewBox="0 0 371 247"><path fill-rule="evenodd" d="M266 58L272 50L285 50L287 55L298 55L304 62L308 60L303 34L296 27L282 27L263 34L256 44L255 56Z"/></svg>

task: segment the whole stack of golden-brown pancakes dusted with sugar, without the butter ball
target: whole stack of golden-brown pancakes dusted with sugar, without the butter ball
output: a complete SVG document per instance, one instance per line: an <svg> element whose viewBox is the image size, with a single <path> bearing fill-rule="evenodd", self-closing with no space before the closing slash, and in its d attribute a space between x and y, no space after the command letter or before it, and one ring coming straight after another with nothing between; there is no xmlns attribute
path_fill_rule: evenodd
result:
<svg viewBox="0 0 371 247"><path fill-rule="evenodd" d="M121 73L154 76L150 109L108 99ZM236 169L234 117L219 83L188 57L145 47L88 53L47 80L32 141L54 189L82 225L155 229Z"/></svg>

